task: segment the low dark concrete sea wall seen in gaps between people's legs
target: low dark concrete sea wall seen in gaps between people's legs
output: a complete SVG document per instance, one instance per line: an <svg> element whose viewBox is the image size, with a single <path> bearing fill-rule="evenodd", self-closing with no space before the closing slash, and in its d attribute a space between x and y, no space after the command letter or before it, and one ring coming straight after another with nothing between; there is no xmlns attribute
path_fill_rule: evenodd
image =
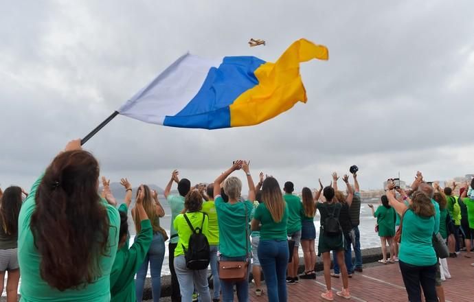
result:
<svg viewBox="0 0 474 302"><path fill-rule="evenodd" d="M381 248L365 248L364 250L361 251L362 253L362 263L363 264L370 264L373 262L377 262L379 259L382 259L382 249ZM332 259L332 257L331 257ZM354 252L352 252L352 259L354 259ZM332 267L332 263L331 263ZM321 257L317 257L317 263L315 270L317 272L323 270L323 262ZM303 258L300 258L300 268L298 269L298 273L304 272L304 261ZM210 272L209 272L210 274ZM252 276L250 274L250 279L252 279ZM263 280L263 276L262 276ZM212 282L209 283L210 288L212 288ZM171 276L161 276L161 297L170 297L171 295ZM146 278L145 280L145 288L143 292L143 299L144 300L150 300L152 299L152 294L151 294L151 279Z"/></svg>

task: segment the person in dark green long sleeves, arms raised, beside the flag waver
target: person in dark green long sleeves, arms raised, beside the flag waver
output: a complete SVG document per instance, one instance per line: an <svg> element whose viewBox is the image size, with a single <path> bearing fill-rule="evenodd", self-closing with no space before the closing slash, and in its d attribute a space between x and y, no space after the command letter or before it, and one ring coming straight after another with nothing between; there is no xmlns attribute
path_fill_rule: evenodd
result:
<svg viewBox="0 0 474 302"><path fill-rule="evenodd" d="M126 178L122 178L120 183L126 189L126 196L125 202L119 207L120 242L111 271L111 302L134 302L137 301L134 277L144 262L148 248L150 248L153 238L153 227L143 207L145 189L143 185L141 185L135 201L135 211L139 217L142 228L139 233L137 233L135 242L128 248L127 212L132 200L132 186L128 183ZM104 191L106 191L106 198L109 200L109 198L111 198L111 192L106 185L104 185Z"/></svg>

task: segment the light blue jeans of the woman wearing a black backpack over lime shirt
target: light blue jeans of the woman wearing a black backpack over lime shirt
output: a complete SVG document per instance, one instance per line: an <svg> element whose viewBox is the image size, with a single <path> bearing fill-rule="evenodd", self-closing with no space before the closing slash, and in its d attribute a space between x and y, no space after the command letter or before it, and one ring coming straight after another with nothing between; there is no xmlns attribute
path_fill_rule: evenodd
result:
<svg viewBox="0 0 474 302"><path fill-rule="evenodd" d="M191 302L194 289L199 293L201 301L211 301L211 294L207 284L207 268L203 270L189 270L186 267L184 255L179 255L174 257L174 270L179 282L181 301Z"/></svg>

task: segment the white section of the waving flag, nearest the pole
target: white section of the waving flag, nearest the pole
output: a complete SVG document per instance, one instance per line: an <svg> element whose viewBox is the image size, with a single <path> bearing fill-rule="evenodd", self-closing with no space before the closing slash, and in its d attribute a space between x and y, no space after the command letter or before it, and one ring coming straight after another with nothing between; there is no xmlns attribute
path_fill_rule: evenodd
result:
<svg viewBox="0 0 474 302"><path fill-rule="evenodd" d="M185 54L138 91L118 109L121 115L151 124L163 125L165 117L176 115L196 94L211 67L223 58L210 60Z"/></svg>

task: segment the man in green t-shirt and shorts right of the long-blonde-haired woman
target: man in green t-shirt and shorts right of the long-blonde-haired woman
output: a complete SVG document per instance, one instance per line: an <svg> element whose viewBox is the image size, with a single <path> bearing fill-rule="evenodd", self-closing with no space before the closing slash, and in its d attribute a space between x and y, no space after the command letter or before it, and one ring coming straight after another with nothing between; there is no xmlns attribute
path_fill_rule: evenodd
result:
<svg viewBox="0 0 474 302"><path fill-rule="evenodd" d="M300 256L298 255L298 248L300 247L301 241L301 211L303 209L303 204L300 198L296 195L293 195L295 191L295 186L291 181L284 183L283 187L284 195L283 199L286 202L286 207L288 207L288 224L286 224L286 233L288 237L291 237L291 240L295 242L295 247L290 254L293 254L291 257L291 262L288 264L288 277L286 277L286 283L293 284L298 281L297 272L298 266L300 266Z"/></svg>

